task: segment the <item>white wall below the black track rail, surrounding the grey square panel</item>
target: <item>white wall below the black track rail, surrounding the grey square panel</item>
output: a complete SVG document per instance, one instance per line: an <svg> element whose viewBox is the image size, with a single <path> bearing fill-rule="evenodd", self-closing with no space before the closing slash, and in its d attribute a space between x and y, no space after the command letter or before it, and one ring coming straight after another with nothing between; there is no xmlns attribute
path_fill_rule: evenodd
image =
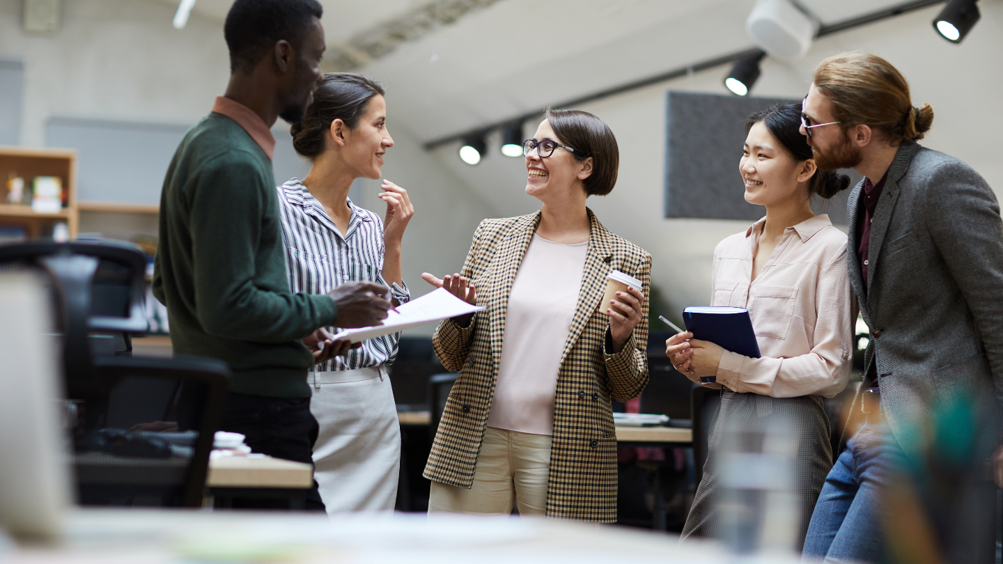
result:
<svg viewBox="0 0 1003 564"><path fill-rule="evenodd" d="M814 66L826 56L863 49L889 59L910 80L914 102L930 102L936 112L932 132L922 144L956 156L982 174L1003 196L1003 160L996 153L1003 112L1003 2L979 3L982 20L960 45L939 37L931 21L942 6L913 12L815 42L804 60L787 64L766 59L753 95L804 95ZM667 295L672 312L709 301L713 249L724 237L743 231L747 222L662 218L665 159L665 92L669 89L725 93L725 67L696 73L582 105L602 117L617 135L620 175L616 189L592 198L590 207L607 228L648 250L652 282ZM583 92L584 93L584 92ZM555 100L559 101L559 100ZM527 123L532 134L537 123ZM523 193L522 160L506 159L489 139L490 155L477 167L463 165L455 147L435 156L472 189L493 202L505 216L525 214L539 203ZM742 198L735 154L734 198ZM670 315L671 317L671 315Z"/></svg>

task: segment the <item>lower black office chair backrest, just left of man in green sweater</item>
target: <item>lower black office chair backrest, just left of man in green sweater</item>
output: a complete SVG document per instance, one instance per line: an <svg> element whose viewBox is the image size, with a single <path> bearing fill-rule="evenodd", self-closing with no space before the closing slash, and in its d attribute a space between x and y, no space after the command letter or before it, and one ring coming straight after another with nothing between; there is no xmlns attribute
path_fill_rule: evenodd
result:
<svg viewBox="0 0 1003 564"><path fill-rule="evenodd" d="M200 507L230 368L210 358L99 357L103 400L82 404L73 463L81 505Z"/></svg>

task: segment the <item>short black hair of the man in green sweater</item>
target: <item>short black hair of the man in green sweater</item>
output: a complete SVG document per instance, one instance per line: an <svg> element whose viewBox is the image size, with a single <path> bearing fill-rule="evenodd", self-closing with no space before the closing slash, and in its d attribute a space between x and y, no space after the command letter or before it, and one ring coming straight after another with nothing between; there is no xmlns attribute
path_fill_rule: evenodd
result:
<svg viewBox="0 0 1003 564"><path fill-rule="evenodd" d="M314 18L322 15L317 0L237 0L223 24L231 72L251 70L282 40L299 50Z"/></svg>

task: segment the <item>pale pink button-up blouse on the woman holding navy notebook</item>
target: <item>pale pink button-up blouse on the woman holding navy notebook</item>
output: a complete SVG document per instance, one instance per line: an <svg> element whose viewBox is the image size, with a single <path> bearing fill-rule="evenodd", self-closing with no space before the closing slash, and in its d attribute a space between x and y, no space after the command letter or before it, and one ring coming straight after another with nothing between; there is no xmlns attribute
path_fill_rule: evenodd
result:
<svg viewBox="0 0 1003 564"><path fill-rule="evenodd" d="M854 337L847 235L827 215L788 227L750 282L765 223L714 249L711 305L747 308L761 355L725 351L717 382L774 397L835 395L850 378Z"/></svg>

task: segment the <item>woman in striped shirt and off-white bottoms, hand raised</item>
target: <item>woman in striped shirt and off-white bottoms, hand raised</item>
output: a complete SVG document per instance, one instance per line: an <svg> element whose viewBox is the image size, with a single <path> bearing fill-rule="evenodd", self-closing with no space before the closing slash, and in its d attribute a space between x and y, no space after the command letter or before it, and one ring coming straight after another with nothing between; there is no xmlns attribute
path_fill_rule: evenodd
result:
<svg viewBox="0 0 1003 564"><path fill-rule="evenodd" d="M293 147L312 163L305 179L277 189L293 291L324 293L362 280L388 285L394 305L408 301L400 273L401 240L414 213L407 192L383 181L384 221L348 199L355 179L380 178L383 155L393 147L385 121L377 82L336 73L324 77L303 121L293 125ZM318 360L307 376L310 410L320 424L314 476L328 513L392 510L400 427L386 363L396 356L400 335L350 348L331 342L337 330L304 339Z"/></svg>

